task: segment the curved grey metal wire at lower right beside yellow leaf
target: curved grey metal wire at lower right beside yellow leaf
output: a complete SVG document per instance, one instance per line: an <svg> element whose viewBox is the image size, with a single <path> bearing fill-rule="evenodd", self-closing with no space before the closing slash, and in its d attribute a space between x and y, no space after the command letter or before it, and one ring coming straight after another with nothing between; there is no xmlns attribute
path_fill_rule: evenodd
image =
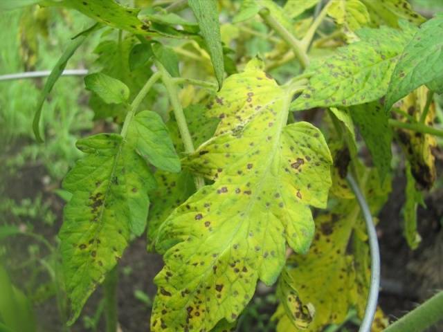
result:
<svg viewBox="0 0 443 332"><path fill-rule="evenodd" d="M361 193L359 185L357 185L351 174L346 176L347 182L350 184L357 201L359 202L363 218L366 223L366 230L368 231L369 248L371 254L371 283L368 294L368 302L366 302L365 316L361 322L359 332L370 332L372 322L374 320L375 311L377 310L377 300L379 298L380 288L380 250L379 241L377 239L377 232L375 231L374 222L372 221L372 214L369 210L368 203Z"/></svg>

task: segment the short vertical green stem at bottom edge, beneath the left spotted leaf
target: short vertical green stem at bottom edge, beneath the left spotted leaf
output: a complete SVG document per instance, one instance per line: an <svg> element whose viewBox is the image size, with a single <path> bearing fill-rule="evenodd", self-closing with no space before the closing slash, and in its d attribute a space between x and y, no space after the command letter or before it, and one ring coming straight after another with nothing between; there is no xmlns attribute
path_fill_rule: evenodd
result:
<svg viewBox="0 0 443 332"><path fill-rule="evenodd" d="M105 288L106 331L117 331L117 283L118 266L109 271L103 286Z"/></svg>

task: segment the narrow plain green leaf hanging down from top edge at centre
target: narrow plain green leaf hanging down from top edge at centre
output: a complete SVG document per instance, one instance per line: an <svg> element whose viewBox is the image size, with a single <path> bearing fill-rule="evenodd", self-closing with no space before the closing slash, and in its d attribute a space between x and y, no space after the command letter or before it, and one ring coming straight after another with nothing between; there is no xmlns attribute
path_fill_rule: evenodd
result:
<svg viewBox="0 0 443 332"><path fill-rule="evenodd" d="M208 46L219 88L223 84L224 58L221 46L219 12L215 0L188 0L189 6L199 22L201 35Z"/></svg>

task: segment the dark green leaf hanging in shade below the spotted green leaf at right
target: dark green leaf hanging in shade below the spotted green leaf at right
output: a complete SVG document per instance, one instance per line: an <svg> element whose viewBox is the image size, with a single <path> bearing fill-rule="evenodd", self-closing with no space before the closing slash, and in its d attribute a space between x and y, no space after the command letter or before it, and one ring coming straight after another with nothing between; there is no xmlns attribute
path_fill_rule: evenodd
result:
<svg viewBox="0 0 443 332"><path fill-rule="evenodd" d="M388 115L379 102L350 107L350 114L359 127L381 181L384 181L386 175L390 174L392 159L392 129L388 124Z"/></svg>

